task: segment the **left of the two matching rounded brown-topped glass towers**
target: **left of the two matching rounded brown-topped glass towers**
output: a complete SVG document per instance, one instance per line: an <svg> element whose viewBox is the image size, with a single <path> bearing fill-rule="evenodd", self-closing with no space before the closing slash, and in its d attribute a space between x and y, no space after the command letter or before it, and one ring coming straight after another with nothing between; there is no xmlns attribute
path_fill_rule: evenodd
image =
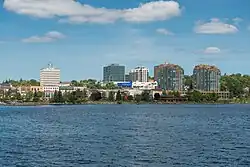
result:
<svg viewBox="0 0 250 167"><path fill-rule="evenodd" d="M179 65L161 64L154 67L154 79L159 89L182 91L184 82L184 70Z"/></svg>

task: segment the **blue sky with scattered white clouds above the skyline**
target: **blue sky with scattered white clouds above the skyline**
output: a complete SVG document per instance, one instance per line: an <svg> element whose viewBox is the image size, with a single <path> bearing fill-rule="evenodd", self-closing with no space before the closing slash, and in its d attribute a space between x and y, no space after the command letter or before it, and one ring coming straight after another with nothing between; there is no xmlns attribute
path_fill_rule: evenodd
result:
<svg viewBox="0 0 250 167"><path fill-rule="evenodd" d="M0 80L39 79L52 62L61 80L197 64L250 74L249 0L5 0L0 3Z"/></svg>

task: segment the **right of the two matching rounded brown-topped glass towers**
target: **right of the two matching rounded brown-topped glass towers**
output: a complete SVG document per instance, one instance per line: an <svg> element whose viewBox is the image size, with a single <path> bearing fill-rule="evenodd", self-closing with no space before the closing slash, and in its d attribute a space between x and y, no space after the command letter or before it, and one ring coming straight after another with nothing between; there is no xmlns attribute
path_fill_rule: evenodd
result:
<svg viewBox="0 0 250 167"><path fill-rule="evenodd" d="M220 90L221 71L210 65L197 65L193 70L194 88L201 91Z"/></svg>

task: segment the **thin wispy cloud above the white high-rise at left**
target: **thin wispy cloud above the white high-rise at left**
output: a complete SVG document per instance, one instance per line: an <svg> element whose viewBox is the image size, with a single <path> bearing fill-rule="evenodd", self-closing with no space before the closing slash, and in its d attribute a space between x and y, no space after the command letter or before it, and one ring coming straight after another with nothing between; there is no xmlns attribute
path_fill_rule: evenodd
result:
<svg viewBox="0 0 250 167"><path fill-rule="evenodd" d="M59 39L63 39L65 36L57 31L50 31L46 33L44 36L31 36L29 38L25 38L22 40L24 43L45 43L45 42L53 42Z"/></svg>

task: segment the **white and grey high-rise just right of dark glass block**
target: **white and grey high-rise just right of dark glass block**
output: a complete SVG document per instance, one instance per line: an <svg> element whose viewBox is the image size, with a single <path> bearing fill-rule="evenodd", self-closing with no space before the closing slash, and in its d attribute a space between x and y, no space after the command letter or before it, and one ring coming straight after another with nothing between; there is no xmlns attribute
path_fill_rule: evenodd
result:
<svg viewBox="0 0 250 167"><path fill-rule="evenodd" d="M129 79L132 82L148 82L149 69L146 67L136 67L129 72Z"/></svg>

